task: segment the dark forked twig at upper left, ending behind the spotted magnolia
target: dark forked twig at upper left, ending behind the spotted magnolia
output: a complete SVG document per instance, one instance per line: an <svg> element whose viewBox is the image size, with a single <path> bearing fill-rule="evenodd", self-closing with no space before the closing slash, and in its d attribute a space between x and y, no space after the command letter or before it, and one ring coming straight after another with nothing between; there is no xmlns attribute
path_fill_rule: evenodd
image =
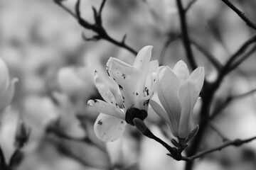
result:
<svg viewBox="0 0 256 170"><path fill-rule="evenodd" d="M81 17L81 15L80 15L80 0L78 0L77 3L75 4L75 13L70 11L63 4L61 4L61 1L58 1L58 0L54 0L54 1L56 4L58 4L58 6L60 6L61 8L65 9L65 11L70 13L70 15L73 16L78 21L80 26L82 26L83 28L88 29L88 30L93 30L97 34L97 35L94 35L92 38L86 38L86 36L83 35L82 38L84 40L100 40L100 39L107 40L109 42L112 42L112 44L122 47L122 48L128 50L129 52L132 52L132 54L137 55L138 52L136 50L134 50L132 47L130 47L129 45L127 45L123 40L118 41L118 40L114 40L114 38L110 37L110 35L108 35L107 31L105 30L105 28L102 26L102 10L105 6L106 0L102 0L102 4L100 5L99 11L97 11L96 8L92 7L92 11L95 16L95 23L93 23L93 24L89 23L88 21L86 21L85 19L83 19Z"/></svg>

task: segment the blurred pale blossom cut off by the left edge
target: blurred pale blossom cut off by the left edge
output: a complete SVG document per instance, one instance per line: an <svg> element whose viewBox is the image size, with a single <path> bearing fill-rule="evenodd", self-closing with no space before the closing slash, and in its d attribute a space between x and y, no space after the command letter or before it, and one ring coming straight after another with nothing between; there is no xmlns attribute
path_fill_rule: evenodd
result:
<svg viewBox="0 0 256 170"><path fill-rule="evenodd" d="M0 112L11 103L14 97L14 84L16 81L18 81L16 78L10 79L8 67L0 59Z"/></svg>

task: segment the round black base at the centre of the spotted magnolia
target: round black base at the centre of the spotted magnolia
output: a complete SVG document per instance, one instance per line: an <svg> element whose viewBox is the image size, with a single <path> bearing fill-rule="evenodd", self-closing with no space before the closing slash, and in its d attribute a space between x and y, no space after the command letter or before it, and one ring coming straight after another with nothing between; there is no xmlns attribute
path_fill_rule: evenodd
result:
<svg viewBox="0 0 256 170"><path fill-rule="evenodd" d="M133 123L134 118L139 118L140 120L144 120L146 117L147 117L147 111L140 110L139 108L128 108L125 114L125 121L130 125L134 125Z"/></svg>

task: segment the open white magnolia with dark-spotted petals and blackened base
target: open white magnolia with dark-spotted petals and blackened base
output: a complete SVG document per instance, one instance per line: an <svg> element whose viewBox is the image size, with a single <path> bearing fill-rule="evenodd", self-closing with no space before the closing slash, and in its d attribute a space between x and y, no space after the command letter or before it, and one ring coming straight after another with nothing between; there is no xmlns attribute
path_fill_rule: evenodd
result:
<svg viewBox="0 0 256 170"><path fill-rule="evenodd" d="M134 125L133 118L146 118L154 86L151 73L158 67L158 62L150 62L151 49L151 46L142 48L133 65L110 57L107 73L119 89L110 88L107 81L95 72L95 86L105 101L90 100L88 104L100 112L94 125L95 134L100 140L117 140L127 123ZM122 96L121 103L119 96Z"/></svg>

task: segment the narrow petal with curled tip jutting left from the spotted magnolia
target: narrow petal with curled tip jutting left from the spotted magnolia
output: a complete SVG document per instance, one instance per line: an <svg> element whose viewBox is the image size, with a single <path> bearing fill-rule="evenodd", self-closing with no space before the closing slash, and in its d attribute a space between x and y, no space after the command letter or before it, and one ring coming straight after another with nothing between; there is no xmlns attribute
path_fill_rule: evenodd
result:
<svg viewBox="0 0 256 170"><path fill-rule="evenodd" d="M124 120L124 113L119 106L114 106L113 104L107 103L101 100L90 100L87 102L90 106L93 106L98 112L105 113L107 115L112 115L117 118Z"/></svg>

